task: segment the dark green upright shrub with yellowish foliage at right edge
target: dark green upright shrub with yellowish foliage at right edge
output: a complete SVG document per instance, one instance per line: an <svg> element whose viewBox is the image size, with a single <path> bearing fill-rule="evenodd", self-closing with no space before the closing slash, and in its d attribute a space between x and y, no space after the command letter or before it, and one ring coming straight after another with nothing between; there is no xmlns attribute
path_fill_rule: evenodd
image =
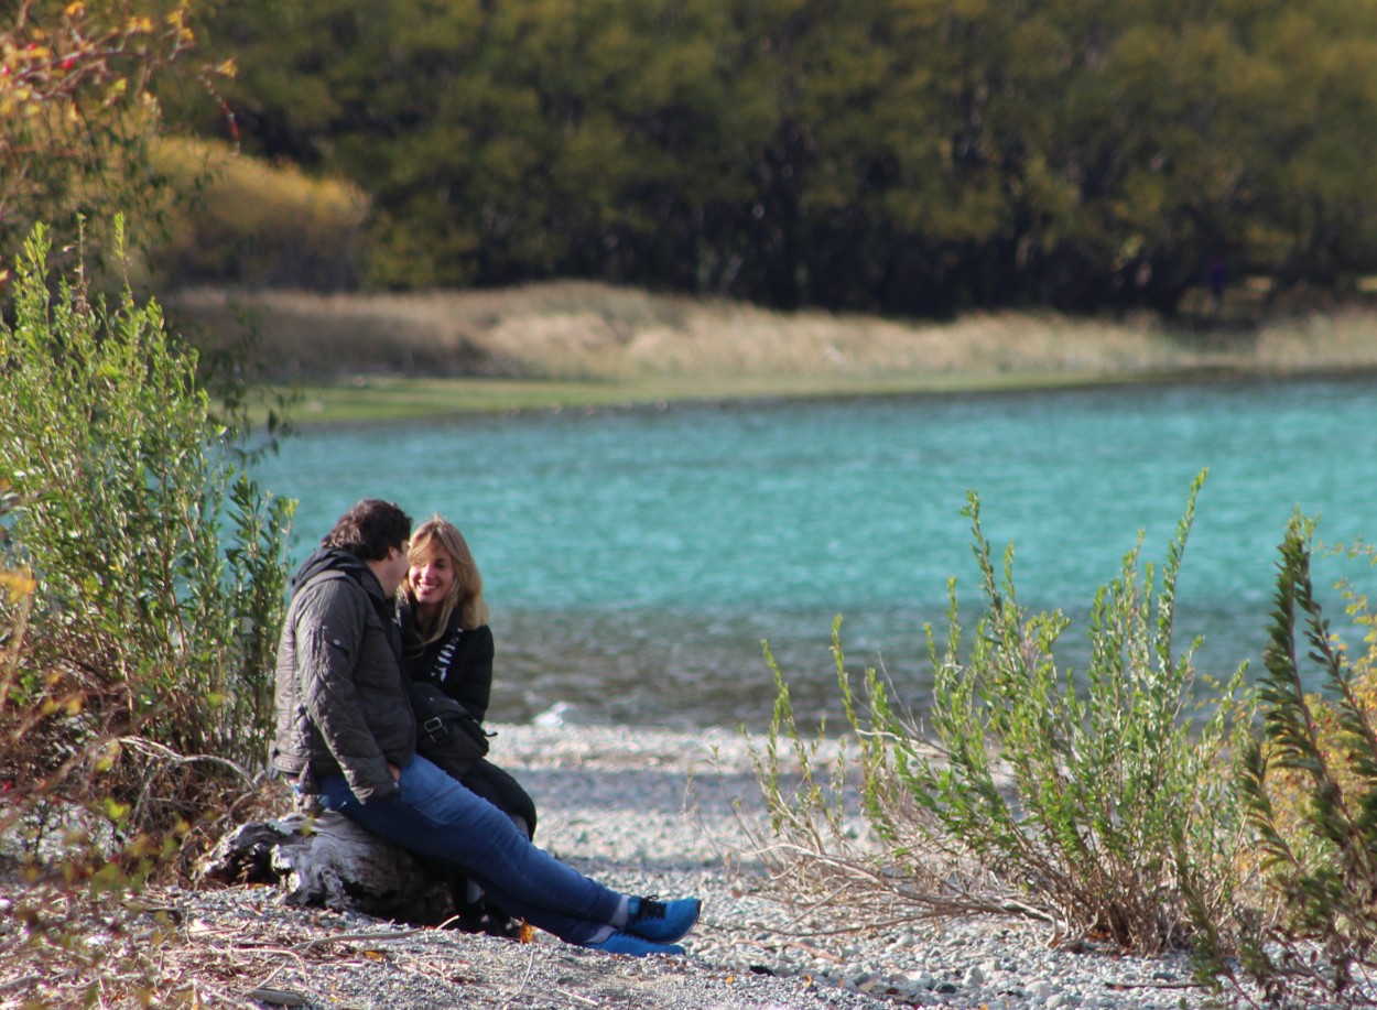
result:
<svg viewBox="0 0 1377 1010"><path fill-rule="evenodd" d="M1369 651L1351 663L1330 634L1311 579L1312 537L1314 523L1296 516L1281 546L1260 689L1263 728L1239 764L1270 901L1250 916L1237 965L1217 945L1201 955L1206 973L1250 978L1268 1006L1373 1006L1377 641L1369 634ZM1366 600L1355 599L1354 607L1359 623L1371 627ZM1305 694L1303 651L1332 700Z"/></svg>

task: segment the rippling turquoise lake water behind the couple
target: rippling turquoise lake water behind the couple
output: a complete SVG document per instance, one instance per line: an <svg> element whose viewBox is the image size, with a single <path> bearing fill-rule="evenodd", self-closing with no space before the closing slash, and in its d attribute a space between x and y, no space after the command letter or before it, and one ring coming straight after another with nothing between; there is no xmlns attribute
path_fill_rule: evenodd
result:
<svg viewBox="0 0 1377 1010"><path fill-rule="evenodd" d="M1015 545L1027 608L1074 625L1139 531L1161 563L1195 473L1177 641L1227 677L1267 640L1276 545L1296 508L1323 542L1377 538L1377 384L1220 383L1036 394L556 411L308 431L256 468L297 498L293 559L362 497L470 541L497 638L492 718L760 728L767 638L804 716L834 711L847 666L929 689L923 625L963 625L979 572L961 515L978 490L996 555ZM1316 566L1373 590L1373 570ZM1329 611L1344 626L1338 597ZM1358 636L1349 636L1358 643Z"/></svg>

